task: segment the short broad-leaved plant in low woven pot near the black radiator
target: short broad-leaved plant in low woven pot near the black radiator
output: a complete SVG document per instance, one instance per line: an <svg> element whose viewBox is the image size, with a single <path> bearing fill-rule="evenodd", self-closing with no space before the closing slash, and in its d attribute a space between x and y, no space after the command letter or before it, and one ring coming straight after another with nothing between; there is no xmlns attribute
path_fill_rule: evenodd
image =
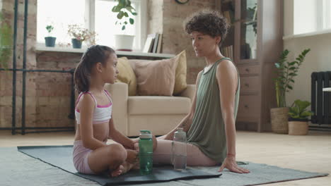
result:
<svg viewBox="0 0 331 186"><path fill-rule="evenodd" d="M296 99L289 108L289 135L307 135L308 117L313 115L312 111L306 111L308 106L309 101Z"/></svg>

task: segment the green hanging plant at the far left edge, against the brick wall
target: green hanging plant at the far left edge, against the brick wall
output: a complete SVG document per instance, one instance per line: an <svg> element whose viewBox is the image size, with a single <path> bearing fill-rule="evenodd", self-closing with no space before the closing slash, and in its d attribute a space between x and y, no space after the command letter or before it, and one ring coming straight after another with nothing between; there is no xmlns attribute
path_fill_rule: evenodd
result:
<svg viewBox="0 0 331 186"><path fill-rule="evenodd" d="M11 57L13 34L11 26L6 23L0 12L0 68L8 68Z"/></svg>

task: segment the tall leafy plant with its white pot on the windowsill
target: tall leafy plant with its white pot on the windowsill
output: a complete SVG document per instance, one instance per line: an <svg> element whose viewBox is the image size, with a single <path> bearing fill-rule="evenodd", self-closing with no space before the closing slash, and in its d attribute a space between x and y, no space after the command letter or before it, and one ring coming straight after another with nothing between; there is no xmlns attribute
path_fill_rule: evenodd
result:
<svg viewBox="0 0 331 186"><path fill-rule="evenodd" d="M112 7L112 12L117 13L117 21L115 25L120 27L120 30L124 32L127 28L127 24L134 24L134 16L137 16L137 12L131 5L129 0L115 0L117 5ZM132 45L134 41L134 35L115 35L115 45L117 50L132 51Z"/></svg>

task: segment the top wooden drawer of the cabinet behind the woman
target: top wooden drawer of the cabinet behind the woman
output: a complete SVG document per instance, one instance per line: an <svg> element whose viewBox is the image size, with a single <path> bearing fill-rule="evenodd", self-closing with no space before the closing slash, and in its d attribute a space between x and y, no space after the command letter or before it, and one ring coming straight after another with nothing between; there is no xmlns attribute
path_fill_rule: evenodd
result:
<svg viewBox="0 0 331 186"><path fill-rule="evenodd" d="M240 77L240 92L260 92L260 76Z"/></svg>

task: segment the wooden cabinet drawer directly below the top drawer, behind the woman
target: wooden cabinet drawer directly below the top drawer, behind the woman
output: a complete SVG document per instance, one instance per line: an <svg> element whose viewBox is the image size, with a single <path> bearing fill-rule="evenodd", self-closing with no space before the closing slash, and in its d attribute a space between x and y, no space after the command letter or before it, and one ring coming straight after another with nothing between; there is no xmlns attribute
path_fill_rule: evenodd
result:
<svg viewBox="0 0 331 186"><path fill-rule="evenodd" d="M257 120L260 113L259 96L248 95L240 96L237 120L246 122Z"/></svg>

